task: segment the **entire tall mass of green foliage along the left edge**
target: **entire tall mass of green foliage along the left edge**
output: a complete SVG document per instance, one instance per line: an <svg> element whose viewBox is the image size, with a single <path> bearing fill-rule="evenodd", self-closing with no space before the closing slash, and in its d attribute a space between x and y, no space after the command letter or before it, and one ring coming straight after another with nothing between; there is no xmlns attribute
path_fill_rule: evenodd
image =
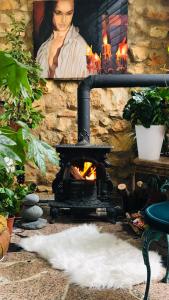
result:
<svg viewBox="0 0 169 300"><path fill-rule="evenodd" d="M31 53L24 49L21 35L24 23L12 20L15 26L7 34L12 48L0 51L0 89L5 100L0 117L0 213L8 215L19 211L21 200L32 190L31 186L18 182L24 165L32 161L45 174L46 160L58 164L55 149L30 130L43 117L33 103L43 94L45 83ZM11 128L12 122L17 129Z"/></svg>

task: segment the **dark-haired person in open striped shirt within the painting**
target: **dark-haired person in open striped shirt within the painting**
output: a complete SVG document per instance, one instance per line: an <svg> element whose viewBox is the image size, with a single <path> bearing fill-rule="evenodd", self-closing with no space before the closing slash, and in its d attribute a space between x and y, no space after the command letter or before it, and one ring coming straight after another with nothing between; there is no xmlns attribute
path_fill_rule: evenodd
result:
<svg viewBox="0 0 169 300"><path fill-rule="evenodd" d="M72 23L74 0L45 1L39 27L36 60L44 78L84 78L88 75L87 43Z"/></svg>

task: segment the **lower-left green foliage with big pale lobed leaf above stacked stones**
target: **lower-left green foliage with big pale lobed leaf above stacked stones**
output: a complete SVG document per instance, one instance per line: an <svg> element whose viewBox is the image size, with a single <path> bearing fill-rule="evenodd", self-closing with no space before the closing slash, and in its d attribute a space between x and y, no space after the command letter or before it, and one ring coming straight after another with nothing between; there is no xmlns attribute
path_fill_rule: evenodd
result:
<svg viewBox="0 0 169 300"><path fill-rule="evenodd" d="M32 161L43 174L47 159L58 164L55 150L35 137L26 124L18 124L22 126L18 131L10 127L0 129L0 213L5 215L19 212L21 200L34 189L33 185L18 181L26 162ZM19 170L18 166L21 166Z"/></svg>

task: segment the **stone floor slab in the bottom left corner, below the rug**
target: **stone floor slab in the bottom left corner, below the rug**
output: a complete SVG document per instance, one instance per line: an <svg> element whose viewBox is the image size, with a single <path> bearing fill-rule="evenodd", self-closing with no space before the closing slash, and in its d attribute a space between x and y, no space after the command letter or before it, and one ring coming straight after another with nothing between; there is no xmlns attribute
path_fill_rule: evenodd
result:
<svg viewBox="0 0 169 300"><path fill-rule="evenodd" d="M23 280L0 284L0 299L61 300L67 284L68 280L63 273L56 270L43 271Z"/></svg>

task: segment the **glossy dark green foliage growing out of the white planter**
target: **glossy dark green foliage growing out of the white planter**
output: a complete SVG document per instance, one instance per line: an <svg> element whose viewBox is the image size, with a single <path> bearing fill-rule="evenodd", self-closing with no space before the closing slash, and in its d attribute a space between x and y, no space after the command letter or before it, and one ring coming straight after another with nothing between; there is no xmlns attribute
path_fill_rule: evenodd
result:
<svg viewBox="0 0 169 300"><path fill-rule="evenodd" d="M165 125L169 127L169 88L145 88L132 92L123 110L131 125Z"/></svg>

